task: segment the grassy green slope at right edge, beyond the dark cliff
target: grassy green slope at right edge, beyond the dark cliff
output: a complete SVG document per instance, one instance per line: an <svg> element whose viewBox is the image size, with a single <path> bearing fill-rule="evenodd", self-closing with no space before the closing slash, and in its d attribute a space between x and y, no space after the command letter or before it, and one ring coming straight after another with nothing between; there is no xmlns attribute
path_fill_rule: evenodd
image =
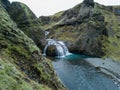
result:
<svg viewBox="0 0 120 90"><path fill-rule="evenodd" d="M104 50L107 57L111 57L114 60L120 60L120 40L116 36L119 36L119 21L118 17L113 13L106 9L105 7L99 8L98 10L105 17L106 28L108 30L109 37L107 38L107 42L104 43Z"/></svg>

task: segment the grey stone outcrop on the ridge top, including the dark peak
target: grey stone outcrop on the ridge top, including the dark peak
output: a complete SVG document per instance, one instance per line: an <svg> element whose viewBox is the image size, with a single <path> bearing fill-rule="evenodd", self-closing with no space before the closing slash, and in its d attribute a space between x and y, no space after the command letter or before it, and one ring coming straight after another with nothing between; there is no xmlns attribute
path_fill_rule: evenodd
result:
<svg viewBox="0 0 120 90"><path fill-rule="evenodd" d="M59 23L58 26L73 25L86 21L88 18L92 17L93 8L94 8L93 0L84 0L83 3L80 5L79 12L76 12L75 10L72 9L67 10L65 17L61 20L61 23Z"/></svg>

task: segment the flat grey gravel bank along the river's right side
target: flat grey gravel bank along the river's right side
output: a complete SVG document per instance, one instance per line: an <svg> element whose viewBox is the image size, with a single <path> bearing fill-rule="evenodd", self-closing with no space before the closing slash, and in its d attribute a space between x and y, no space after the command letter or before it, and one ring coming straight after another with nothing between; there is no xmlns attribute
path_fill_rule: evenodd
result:
<svg viewBox="0 0 120 90"><path fill-rule="evenodd" d="M85 61L94 66L96 70L108 75L120 88L120 61L115 61L110 58L87 58Z"/></svg>

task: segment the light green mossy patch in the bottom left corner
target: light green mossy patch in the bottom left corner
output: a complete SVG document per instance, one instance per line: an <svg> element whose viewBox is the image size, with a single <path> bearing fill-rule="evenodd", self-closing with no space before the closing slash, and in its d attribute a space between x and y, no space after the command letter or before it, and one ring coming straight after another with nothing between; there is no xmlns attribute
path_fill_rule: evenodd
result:
<svg viewBox="0 0 120 90"><path fill-rule="evenodd" d="M0 58L0 90L51 90L45 85L30 81L27 77L25 79L24 74L9 61L11 60L6 57Z"/></svg>

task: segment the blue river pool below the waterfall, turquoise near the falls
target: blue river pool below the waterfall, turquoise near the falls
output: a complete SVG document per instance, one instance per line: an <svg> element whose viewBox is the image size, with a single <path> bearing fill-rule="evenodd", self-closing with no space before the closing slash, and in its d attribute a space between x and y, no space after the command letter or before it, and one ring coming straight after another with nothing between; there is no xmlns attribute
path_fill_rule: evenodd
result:
<svg viewBox="0 0 120 90"><path fill-rule="evenodd" d="M106 75L90 66L85 55L55 58L54 69L68 90L120 90Z"/></svg>

